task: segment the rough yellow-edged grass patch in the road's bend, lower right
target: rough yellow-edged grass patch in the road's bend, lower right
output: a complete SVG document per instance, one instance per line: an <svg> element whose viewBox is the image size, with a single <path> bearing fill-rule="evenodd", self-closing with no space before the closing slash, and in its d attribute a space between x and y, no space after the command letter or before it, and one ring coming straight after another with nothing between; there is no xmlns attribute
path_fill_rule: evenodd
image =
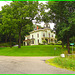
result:
<svg viewBox="0 0 75 75"><path fill-rule="evenodd" d="M71 57L69 56L65 58L57 57L57 58L46 60L46 63L58 68L64 68L64 69L75 71L75 60L74 60L75 56L73 56L74 58Z"/></svg>

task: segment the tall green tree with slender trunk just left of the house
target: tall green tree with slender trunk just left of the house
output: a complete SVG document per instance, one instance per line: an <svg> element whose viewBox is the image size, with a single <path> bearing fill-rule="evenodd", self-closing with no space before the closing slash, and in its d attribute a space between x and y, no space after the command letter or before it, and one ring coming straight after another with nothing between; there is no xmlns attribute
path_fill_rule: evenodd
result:
<svg viewBox="0 0 75 75"><path fill-rule="evenodd" d="M16 1L11 3L13 8L13 16L16 19L17 32L19 32L19 48L21 47L22 31L32 30L32 20L37 14L38 2L35 1ZM28 29L26 28L28 27Z"/></svg>

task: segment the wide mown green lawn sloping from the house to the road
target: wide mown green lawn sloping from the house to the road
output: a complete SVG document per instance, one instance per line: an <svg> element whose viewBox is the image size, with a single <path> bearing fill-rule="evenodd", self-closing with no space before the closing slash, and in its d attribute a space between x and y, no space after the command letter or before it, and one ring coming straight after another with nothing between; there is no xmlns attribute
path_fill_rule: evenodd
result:
<svg viewBox="0 0 75 75"><path fill-rule="evenodd" d="M56 50L54 50L56 48ZM18 47L0 47L1 56L59 56L63 51L61 45L35 45Z"/></svg>

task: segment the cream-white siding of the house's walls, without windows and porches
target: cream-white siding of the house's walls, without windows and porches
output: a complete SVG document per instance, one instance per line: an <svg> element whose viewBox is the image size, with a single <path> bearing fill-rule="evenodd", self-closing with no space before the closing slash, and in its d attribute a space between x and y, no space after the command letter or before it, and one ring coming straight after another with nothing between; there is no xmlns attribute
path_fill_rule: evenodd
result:
<svg viewBox="0 0 75 75"><path fill-rule="evenodd" d="M50 37L52 37L53 35L53 38L55 38L55 34L51 33L49 29L43 30L43 31L35 31L31 33L29 36L29 38L32 39L32 35L33 35L33 38L35 39L34 44L31 44L31 45L38 45L38 40L39 40L39 43L42 43L43 33L45 33L45 37L49 37L49 33L50 33ZM39 37L37 36L37 34L39 34ZM25 40L27 40L27 37L25 37Z"/></svg>

